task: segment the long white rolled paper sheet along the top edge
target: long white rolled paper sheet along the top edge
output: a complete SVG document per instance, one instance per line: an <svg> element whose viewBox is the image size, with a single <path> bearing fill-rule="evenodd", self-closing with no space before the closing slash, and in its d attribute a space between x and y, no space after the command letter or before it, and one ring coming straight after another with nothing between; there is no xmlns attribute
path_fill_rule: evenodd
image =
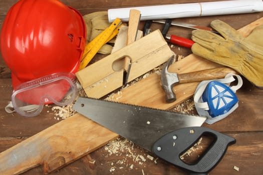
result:
<svg viewBox="0 0 263 175"><path fill-rule="evenodd" d="M117 17L124 22L129 21L130 9L140 10L141 20L153 20L259 12L263 11L263 2L262 0L224 0L214 2L111 8L108 10L109 22L113 22Z"/></svg>

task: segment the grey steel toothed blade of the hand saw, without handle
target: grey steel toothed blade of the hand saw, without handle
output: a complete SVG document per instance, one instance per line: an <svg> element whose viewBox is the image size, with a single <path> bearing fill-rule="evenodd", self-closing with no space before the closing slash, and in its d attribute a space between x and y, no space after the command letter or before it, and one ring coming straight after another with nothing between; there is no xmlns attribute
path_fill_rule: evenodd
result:
<svg viewBox="0 0 263 175"><path fill-rule="evenodd" d="M152 151L154 142L173 130L201 126L205 117L79 97L73 109L104 127Z"/></svg>

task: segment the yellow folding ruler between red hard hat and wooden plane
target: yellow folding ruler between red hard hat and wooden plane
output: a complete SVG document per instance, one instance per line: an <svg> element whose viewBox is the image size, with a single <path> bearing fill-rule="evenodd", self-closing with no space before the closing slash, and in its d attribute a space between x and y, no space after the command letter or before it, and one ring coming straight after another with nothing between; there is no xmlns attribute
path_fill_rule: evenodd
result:
<svg viewBox="0 0 263 175"><path fill-rule="evenodd" d="M85 46L85 50L80 63L80 70L85 68L90 60L95 56L99 49L108 41L110 41L119 32L121 19L116 18L112 24L107 27L103 32L96 36L91 42Z"/></svg>

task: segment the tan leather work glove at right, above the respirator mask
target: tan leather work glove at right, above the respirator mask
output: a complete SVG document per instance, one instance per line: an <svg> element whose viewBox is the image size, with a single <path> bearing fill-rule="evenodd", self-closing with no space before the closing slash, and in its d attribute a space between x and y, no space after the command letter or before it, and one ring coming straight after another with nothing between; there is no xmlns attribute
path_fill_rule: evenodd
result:
<svg viewBox="0 0 263 175"><path fill-rule="evenodd" d="M220 35L193 30L191 49L194 54L233 68L254 85L263 88L263 25L259 25L247 36L221 20L213 20L211 27Z"/></svg>

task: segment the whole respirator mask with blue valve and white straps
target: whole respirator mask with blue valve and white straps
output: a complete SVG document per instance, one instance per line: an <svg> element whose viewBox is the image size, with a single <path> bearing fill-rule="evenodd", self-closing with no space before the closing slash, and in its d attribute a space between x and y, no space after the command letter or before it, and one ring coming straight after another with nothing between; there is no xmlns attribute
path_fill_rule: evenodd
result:
<svg viewBox="0 0 263 175"><path fill-rule="evenodd" d="M237 79L237 84L230 83ZM229 115L238 107L235 91L242 86L239 75L229 73L222 79L200 82L194 93L195 108L200 116L206 116L206 123L212 124Z"/></svg>

